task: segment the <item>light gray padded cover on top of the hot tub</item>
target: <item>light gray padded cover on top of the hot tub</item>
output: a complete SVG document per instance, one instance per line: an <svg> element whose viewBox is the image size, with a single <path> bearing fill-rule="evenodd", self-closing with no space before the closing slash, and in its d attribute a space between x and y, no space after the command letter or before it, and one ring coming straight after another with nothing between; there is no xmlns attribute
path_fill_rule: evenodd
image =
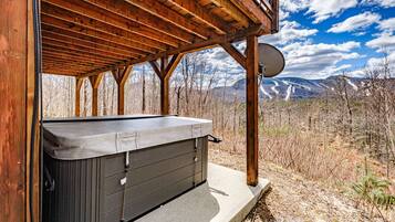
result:
<svg viewBox="0 0 395 222"><path fill-rule="evenodd" d="M43 125L44 150L55 159L76 160L204 137L212 131L206 119L165 116L94 121L49 121Z"/></svg>

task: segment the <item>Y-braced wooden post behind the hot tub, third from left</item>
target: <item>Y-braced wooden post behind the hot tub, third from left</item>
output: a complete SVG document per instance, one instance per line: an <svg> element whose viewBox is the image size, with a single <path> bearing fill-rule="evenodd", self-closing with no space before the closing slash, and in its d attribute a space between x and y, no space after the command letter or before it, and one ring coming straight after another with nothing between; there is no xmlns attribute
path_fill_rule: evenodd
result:
<svg viewBox="0 0 395 222"><path fill-rule="evenodd" d="M132 75L133 66L112 71L115 82L118 86L118 115L125 115L125 83Z"/></svg>

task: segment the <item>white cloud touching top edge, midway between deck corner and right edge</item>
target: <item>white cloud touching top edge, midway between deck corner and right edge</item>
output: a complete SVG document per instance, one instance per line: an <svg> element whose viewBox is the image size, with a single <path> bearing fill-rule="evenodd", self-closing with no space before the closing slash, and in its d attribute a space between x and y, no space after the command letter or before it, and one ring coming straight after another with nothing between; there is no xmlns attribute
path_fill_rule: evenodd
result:
<svg viewBox="0 0 395 222"><path fill-rule="evenodd" d="M344 10L356 4L356 0L312 0L306 14L312 13L313 23L320 23L331 17L340 15Z"/></svg>

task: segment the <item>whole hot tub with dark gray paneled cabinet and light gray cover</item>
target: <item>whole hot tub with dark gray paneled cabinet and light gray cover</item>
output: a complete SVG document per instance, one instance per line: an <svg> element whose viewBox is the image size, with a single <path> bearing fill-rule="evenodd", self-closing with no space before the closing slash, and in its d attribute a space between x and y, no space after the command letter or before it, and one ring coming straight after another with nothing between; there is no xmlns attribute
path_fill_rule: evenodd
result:
<svg viewBox="0 0 395 222"><path fill-rule="evenodd" d="M70 156L71 158L67 159L65 154L73 152L60 144L67 144L66 137L69 137L80 138L80 145L83 145L81 137L84 135L73 137L74 134L65 133L63 137L55 136L59 133L58 127L61 127L64 133L64 127L70 127L73 121L44 124L44 127L46 126L44 165L54 181L54 189L44 191L43 195L44 222L116 222L122 219L129 221L205 182L207 135L211 123L180 117L145 119L145 121L149 120L154 121L149 124L154 131L155 126L162 128L162 131L171 134L187 128L201 130L198 134L193 133L185 139L175 140L174 136L169 136L171 139L165 144L162 144L162 139L155 139L156 135L152 135L153 140L160 141L159 145L150 147L137 145L137 148L118 154L96 155L97 157L82 159ZM135 129L133 123L136 121L136 119L119 119L113 123L106 121L105 125L121 124L123 125L121 128L125 130L128 128L125 127L127 125L131 129ZM177 126L177 130L170 129L174 123L175 125L184 123L184 126ZM72 130L73 127L69 129ZM119 137L119 131L115 131L117 135L115 138L124 138ZM138 138L138 134L146 133L142 128L137 129L135 138ZM81 152L82 148L83 146L69 147L69 149L76 149L76 152L82 156L92 156L92 150ZM65 152L61 154L63 150ZM56 154L62 158L56 158Z"/></svg>

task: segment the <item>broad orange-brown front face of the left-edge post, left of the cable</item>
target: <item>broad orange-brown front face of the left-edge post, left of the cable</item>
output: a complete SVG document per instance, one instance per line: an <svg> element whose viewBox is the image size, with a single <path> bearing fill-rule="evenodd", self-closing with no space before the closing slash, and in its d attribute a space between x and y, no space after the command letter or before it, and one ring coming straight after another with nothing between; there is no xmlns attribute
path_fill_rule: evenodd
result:
<svg viewBox="0 0 395 222"><path fill-rule="evenodd" d="M25 221L28 9L0 0L0 221Z"/></svg>

